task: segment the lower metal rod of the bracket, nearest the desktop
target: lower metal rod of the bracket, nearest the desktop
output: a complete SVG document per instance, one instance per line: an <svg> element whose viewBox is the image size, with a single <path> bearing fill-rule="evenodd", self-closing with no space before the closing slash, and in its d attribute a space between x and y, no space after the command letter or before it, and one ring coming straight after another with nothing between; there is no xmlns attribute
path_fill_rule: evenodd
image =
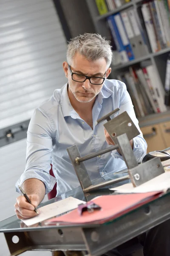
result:
<svg viewBox="0 0 170 256"><path fill-rule="evenodd" d="M109 186L109 185L112 185L112 184L115 184L115 183L118 183L118 182L121 182L121 181L124 181L124 180L128 180L130 179L129 175L126 175L126 176L123 176L123 177L119 177L117 179L114 179L114 180L108 180L106 182L102 182L100 184L97 184L97 185L92 185L92 186L89 186L88 188L86 189L83 189L83 192L87 193L87 192L91 192L93 190L96 190L96 189L101 189L105 186Z"/></svg>

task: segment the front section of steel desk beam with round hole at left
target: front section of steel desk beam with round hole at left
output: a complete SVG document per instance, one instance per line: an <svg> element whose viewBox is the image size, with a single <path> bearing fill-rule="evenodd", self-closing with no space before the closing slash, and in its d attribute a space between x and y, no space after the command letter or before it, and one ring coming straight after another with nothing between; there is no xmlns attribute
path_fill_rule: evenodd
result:
<svg viewBox="0 0 170 256"><path fill-rule="evenodd" d="M20 255L27 250L86 250L81 227L51 228L46 230L5 233L11 255ZM19 238L13 243L12 237Z"/></svg>

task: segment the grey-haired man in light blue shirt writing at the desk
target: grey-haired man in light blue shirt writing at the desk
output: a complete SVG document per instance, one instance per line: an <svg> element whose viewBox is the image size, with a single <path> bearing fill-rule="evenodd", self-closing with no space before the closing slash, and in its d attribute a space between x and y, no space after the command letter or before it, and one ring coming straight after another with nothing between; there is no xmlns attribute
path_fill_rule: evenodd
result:
<svg viewBox="0 0 170 256"><path fill-rule="evenodd" d="M114 145L104 132L103 124L96 124L97 119L119 107L119 113L127 111L139 129L125 84L107 79L111 61L111 46L100 35L86 33L68 44L67 62L63 63L68 83L55 90L51 99L34 112L28 127L26 170L16 184L16 187L23 187L34 206L51 191L56 179L58 195L79 186L66 151L68 147L76 144L84 156ZM136 160L141 162L147 148L142 133L130 144ZM51 160L56 178L49 175ZM91 180L126 168L116 150L85 161L85 166ZM33 210L23 196L17 198L18 218L36 215ZM153 240L146 239L146 243L148 241ZM111 254L119 255L115 250ZM154 254L153 250L148 253L147 250L145 255L168 254Z"/></svg>

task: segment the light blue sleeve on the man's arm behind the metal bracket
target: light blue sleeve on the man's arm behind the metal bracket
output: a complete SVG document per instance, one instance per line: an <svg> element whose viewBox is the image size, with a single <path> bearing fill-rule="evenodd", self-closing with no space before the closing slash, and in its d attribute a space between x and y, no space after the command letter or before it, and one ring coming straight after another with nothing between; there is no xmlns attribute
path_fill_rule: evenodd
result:
<svg viewBox="0 0 170 256"><path fill-rule="evenodd" d="M144 140L142 131L139 128L139 122L138 122L138 119L136 118L130 95L127 92L126 85L124 83L122 83L122 87L120 89L119 108L120 108L119 114L123 113L124 111L127 111L133 123L136 125L136 128L138 128L140 132L138 136L133 138L133 153L136 157L137 162L141 163L147 151L147 143ZM111 154L114 158L121 158L123 160L123 157L119 154L117 150L112 151Z"/></svg>

